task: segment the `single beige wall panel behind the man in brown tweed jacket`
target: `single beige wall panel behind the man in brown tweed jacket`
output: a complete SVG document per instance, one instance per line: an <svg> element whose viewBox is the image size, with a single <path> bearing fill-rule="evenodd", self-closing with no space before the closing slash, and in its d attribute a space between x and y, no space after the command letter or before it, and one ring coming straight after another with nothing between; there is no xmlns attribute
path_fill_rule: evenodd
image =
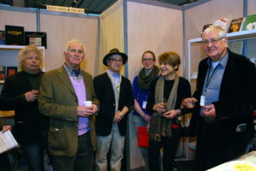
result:
<svg viewBox="0 0 256 171"><path fill-rule="evenodd" d="M46 71L64 64L65 45L77 39L86 49L81 68L93 76L98 75L98 30L98 17L41 14L40 31L47 32Z"/></svg>

